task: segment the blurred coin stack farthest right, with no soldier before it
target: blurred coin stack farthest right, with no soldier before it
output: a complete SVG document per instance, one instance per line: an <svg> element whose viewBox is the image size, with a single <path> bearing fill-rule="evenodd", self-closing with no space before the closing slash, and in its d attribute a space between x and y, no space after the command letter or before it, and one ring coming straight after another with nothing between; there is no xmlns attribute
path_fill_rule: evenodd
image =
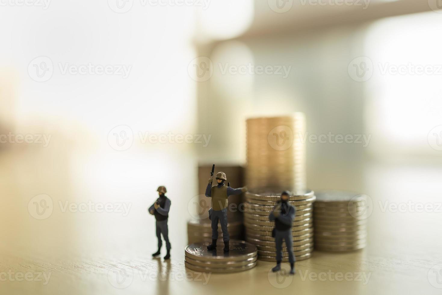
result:
<svg viewBox="0 0 442 295"><path fill-rule="evenodd" d="M365 195L351 192L318 192L315 216L315 249L352 251L367 244Z"/></svg>

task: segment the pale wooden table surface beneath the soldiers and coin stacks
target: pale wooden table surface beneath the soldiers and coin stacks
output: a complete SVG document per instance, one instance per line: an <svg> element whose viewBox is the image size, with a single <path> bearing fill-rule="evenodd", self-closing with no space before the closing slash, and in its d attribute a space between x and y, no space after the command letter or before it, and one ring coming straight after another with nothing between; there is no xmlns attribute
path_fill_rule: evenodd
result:
<svg viewBox="0 0 442 295"><path fill-rule="evenodd" d="M198 194L197 163L186 148L121 153L53 142L44 149L5 147L0 163L1 294L442 292L442 272L431 269L442 263L440 165L365 163L354 177L363 178L361 192L373 200L369 245L352 253L315 251L296 263L291 277L276 276L269 272L274 263L262 261L233 274L202 275L184 267L188 203ZM170 261L151 257L156 236L146 209L158 185L166 185L172 202ZM50 196L53 208L38 220L28 205L41 194ZM416 212L408 202L434 209ZM113 207L98 212L97 204ZM161 257L164 252L163 246Z"/></svg>

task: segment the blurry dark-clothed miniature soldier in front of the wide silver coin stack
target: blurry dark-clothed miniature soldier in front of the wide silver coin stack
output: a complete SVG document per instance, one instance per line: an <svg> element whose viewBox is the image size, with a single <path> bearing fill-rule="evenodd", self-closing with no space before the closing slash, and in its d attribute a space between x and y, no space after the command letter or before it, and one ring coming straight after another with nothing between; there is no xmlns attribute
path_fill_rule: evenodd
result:
<svg viewBox="0 0 442 295"><path fill-rule="evenodd" d="M281 193L281 200L273 208L269 219L275 222L276 266L272 268L272 271L277 272L281 269L282 239L284 239L284 241L286 241L287 251L289 252L290 274L293 275L295 274L295 257L293 256L292 224L295 219L295 207L291 206L288 202L289 197L289 191Z"/></svg>

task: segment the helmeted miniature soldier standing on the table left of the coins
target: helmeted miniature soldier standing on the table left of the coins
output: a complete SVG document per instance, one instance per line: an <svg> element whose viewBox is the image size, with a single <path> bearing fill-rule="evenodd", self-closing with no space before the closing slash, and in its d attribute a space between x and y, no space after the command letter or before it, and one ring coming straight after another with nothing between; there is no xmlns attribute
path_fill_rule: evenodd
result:
<svg viewBox="0 0 442 295"><path fill-rule="evenodd" d="M164 259L170 258L170 242L168 237L168 226L167 220L169 217L169 209L171 201L164 194L167 192L164 186L159 186L156 190L158 195L160 196L156 199L156 202L153 203L149 208L149 213L155 216L156 220L156 238L158 238L158 251L152 254L152 256L160 255L161 249L161 234L163 234L164 241L166 241L166 250L167 254L164 256Z"/></svg>

